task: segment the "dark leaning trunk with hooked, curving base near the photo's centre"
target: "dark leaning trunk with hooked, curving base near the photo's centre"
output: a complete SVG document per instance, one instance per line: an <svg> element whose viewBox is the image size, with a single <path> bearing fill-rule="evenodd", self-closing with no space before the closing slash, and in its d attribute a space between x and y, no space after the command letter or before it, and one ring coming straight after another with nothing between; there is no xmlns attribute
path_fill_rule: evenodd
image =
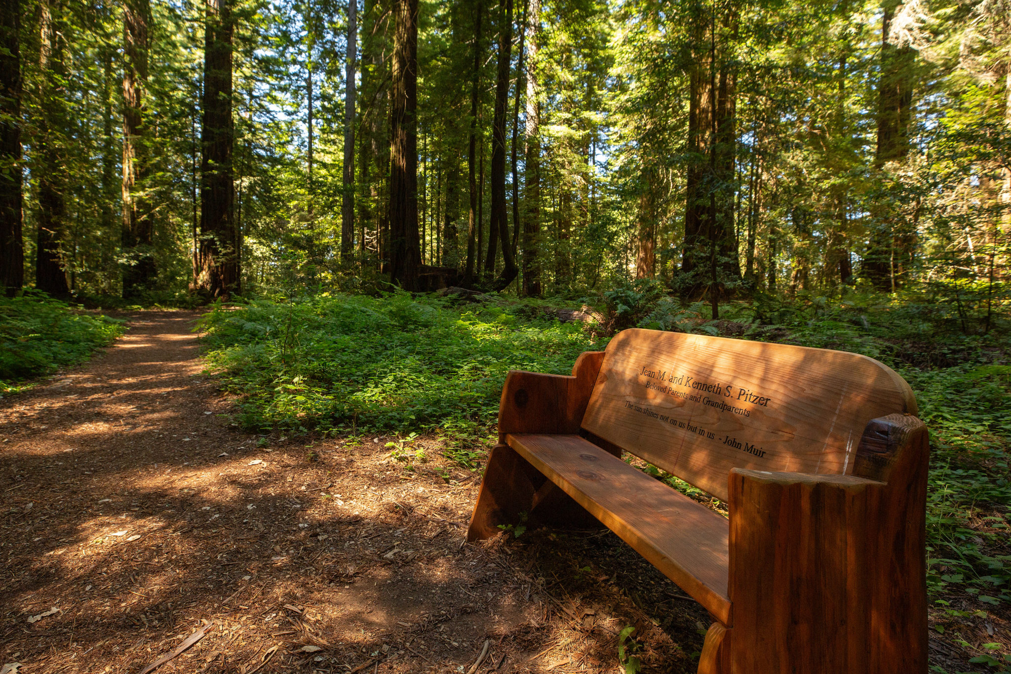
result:
<svg viewBox="0 0 1011 674"><path fill-rule="evenodd" d="M503 290L520 270L513 255L509 233L509 204L505 201L505 107L509 102L509 75L513 56L513 0L499 0L498 69L495 75L495 107L491 121L491 222L485 271L490 277L495 268L495 239L502 252L501 274L492 282L494 290Z"/></svg>

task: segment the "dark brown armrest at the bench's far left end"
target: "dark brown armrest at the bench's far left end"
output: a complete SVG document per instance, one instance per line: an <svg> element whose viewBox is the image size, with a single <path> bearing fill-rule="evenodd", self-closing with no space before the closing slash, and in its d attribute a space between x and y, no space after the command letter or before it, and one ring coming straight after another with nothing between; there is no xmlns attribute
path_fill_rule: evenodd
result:
<svg viewBox="0 0 1011 674"><path fill-rule="evenodd" d="M508 434L578 434L603 361L604 352L584 352L571 376L510 371L498 406L498 442Z"/></svg>

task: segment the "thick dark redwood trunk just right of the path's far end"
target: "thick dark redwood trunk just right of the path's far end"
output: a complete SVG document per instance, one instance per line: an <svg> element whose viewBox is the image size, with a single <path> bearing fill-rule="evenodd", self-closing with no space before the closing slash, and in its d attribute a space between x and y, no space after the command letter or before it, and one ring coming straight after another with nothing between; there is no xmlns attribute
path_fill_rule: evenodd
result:
<svg viewBox="0 0 1011 674"><path fill-rule="evenodd" d="M200 243L194 285L207 297L242 292L233 200L232 37L229 0L206 0L201 127Z"/></svg>

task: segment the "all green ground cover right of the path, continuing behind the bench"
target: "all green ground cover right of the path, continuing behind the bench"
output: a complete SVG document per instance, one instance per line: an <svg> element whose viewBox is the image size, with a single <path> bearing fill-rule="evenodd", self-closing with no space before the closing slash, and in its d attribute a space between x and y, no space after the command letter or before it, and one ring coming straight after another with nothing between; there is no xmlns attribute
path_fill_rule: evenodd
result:
<svg viewBox="0 0 1011 674"><path fill-rule="evenodd" d="M600 300L600 311L586 314L600 317L591 323L560 322L546 301L453 305L405 293L256 300L213 308L201 329L210 364L241 394L242 423L286 432L395 431L403 441L390 444L391 454L408 469L420 456L411 434L442 436L448 456L479 467L505 373L567 373L580 352L603 350L614 329L721 333L882 360L913 387L931 432L928 587L941 650L934 671L961 671L945 669L946 645L970 654L980 671L1008 669L1006 628L995 628L1007 624L1011 605L1005 324L967 330L953 305L947 310L924 296L759 296L726 304L716 321L705 305L681 304L649 283ZM725 510L655 467L643 468Z"/></svg>

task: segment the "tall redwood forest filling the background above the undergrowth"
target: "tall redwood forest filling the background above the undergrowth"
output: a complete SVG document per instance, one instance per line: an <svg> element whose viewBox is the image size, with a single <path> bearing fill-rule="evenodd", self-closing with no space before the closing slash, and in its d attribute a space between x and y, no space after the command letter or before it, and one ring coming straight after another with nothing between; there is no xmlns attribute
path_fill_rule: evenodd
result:
<svg viewBox="0 0 1011 674"><path fill-rule="evenodd" d="M8 294L139 301L942 288L989 329L1011 255L1009 17L8 0L0 272Z"/></svg>

